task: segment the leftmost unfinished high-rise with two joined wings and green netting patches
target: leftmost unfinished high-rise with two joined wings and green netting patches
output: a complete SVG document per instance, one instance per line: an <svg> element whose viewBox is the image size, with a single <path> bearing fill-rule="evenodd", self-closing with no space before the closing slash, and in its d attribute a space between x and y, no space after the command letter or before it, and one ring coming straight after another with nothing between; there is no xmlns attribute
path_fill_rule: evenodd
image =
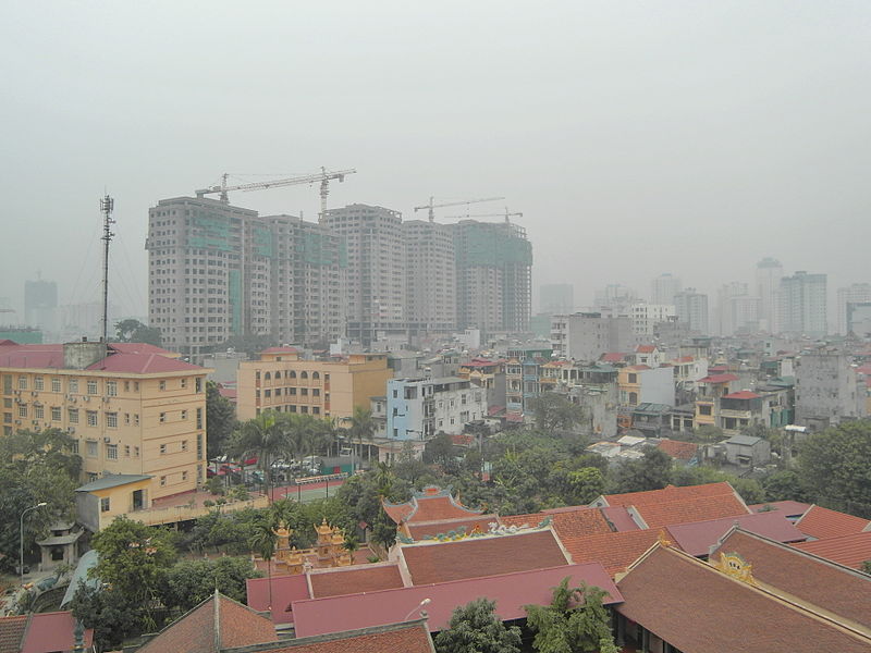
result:
<svg viewBox="0 0 871 653"><path fill-rule="evenodd" d="M148 316L191 360L231 336L326 343L343 333L343 250L326 227L191 197L149 210Z"/></svg>

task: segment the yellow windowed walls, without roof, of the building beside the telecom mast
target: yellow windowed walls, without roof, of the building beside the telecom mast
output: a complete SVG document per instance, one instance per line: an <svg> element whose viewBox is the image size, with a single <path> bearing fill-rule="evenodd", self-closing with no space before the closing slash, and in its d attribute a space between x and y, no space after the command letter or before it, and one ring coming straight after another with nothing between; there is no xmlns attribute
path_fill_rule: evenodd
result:
<svg viewBox="0 0 871 653"><path fill-rule="evenodd" d="M83 482L147 475L149 501L189 492L205 481L209 370L187 367L160 373L0 367L2 432L69 433Z"/></svg>

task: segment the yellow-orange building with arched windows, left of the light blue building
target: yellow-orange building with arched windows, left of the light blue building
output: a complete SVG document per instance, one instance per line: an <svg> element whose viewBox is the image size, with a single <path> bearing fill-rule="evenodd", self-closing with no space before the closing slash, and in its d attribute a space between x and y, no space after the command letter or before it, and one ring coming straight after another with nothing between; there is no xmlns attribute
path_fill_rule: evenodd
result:
<svg viewBox="0 0 871 653"><path fill-rule="evenodd" d="M293 347L271 347L260 360L241 362L236 372L236 416L256 417L262 410L346 418L354 407L370 407L383 396L387 354L351 354L341 360L305 360Z"/></svg>

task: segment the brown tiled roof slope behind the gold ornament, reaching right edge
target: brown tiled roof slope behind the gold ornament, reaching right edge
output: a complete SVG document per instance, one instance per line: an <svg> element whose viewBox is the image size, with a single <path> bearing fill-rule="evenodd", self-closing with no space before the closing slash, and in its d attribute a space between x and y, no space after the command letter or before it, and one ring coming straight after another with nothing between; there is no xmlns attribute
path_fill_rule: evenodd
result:
<svg viewBox="0 0 871 653"><path fill-rule="evenodd" d="M757 582L871 627L871 576L740 530L723 540L717 553L721 551L737 553L750 563Z"/></svg>

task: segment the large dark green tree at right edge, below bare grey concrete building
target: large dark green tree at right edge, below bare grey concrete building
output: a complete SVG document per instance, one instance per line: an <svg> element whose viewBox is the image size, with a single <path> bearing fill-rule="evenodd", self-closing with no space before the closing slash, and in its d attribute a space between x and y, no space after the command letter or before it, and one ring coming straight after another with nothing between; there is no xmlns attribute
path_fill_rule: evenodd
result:
<svg viewBox="0 0 871 653"><path fill-rule="evenodd" d="M801 444L798 472L814 503L871 518L871 420L811 434Z"/></svg>

